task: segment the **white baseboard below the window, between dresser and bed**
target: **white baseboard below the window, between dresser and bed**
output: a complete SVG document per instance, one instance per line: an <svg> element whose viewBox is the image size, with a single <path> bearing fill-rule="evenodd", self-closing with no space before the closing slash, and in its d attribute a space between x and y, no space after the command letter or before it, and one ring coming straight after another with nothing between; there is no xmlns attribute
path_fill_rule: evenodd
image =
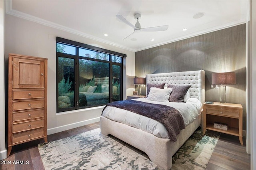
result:
<svg viewBox="0 0 256 170"><path fill-rule="evenodd" d="M64 125L64 126L60 126L60 127L50 128L50 129L47 129L47 135L62 132L64 130L69 130L72 128L81 127L81 126L99 122L99 121L100 121L100 117L96 117L94 119L89 119L86 121L81 121L81 122L76 122L76 123L72 123L72 124L68 124L68 125Z"/></svg>

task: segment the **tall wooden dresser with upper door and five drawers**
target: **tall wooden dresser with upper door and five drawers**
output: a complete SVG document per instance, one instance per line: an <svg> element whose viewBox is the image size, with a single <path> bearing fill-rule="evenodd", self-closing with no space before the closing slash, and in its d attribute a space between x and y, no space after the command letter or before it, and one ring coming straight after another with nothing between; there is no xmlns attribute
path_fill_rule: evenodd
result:
<svg viewBox="0 0 256 170"><path fill-rule="evenodd" d="M39 138L47 142L47 59L9 53L7 156Z"/></svg>

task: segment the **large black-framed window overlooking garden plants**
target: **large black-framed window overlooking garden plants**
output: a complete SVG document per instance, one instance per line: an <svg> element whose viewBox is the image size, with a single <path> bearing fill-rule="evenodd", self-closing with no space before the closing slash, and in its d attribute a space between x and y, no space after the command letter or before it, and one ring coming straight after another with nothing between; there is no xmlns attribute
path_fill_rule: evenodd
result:
<svg viewBox="0 0 256 170"><path fill-rule="evenodd" d="M57 112L122 99L125 54L56 38Z"/></svg>

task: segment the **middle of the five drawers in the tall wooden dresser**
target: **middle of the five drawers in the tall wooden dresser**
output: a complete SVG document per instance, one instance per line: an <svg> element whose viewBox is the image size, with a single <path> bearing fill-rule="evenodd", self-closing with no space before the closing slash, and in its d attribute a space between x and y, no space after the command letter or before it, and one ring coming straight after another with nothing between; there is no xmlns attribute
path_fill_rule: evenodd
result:
<svg viewBox="0 0 256 170"><path fill-rule="evenodd" d="M24 112L14 112L12 114L12 121L25 121L29 119L36 119L44 117L44 109L33 110L33 111L24 111Z"/></svg>

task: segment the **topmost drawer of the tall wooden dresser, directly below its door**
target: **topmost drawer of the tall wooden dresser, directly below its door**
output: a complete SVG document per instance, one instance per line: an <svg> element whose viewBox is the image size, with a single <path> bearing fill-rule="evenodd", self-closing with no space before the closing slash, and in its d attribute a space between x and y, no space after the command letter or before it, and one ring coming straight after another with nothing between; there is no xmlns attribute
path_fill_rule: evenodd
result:
<svg viewBox="0 0 256 170"><path fill-rule="evenodd" d="M12 99L36 99L44 98L44 90L15 90Z"/></svg>

